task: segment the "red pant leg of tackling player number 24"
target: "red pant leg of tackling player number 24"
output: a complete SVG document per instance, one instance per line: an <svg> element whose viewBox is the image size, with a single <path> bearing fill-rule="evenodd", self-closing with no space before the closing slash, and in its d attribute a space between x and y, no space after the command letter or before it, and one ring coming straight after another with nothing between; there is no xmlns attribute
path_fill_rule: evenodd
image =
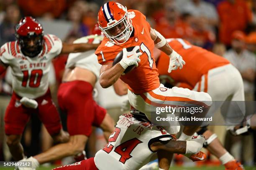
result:
<svg viewBox="0 0 256 170"><path fill-rule="evenodd" d="M90 159L82 160L80 162L73 163L70 165L57 167L52 170L98 170L98 169L94 163L94 158L90 158Z"/></svg>

